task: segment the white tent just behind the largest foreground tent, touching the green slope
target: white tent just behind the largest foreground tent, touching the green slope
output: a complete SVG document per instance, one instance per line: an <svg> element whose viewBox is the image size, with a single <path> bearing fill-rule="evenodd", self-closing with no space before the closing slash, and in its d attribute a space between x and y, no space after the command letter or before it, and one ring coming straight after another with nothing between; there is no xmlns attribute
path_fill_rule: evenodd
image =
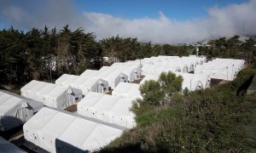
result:
<svg viewBox="0 0 256 153"><path fill-rule="evenodd" d="M136 122L130 111L131 105L132 99L91 92L79 102L78 113L122 127L134 127Z"/></svg>

